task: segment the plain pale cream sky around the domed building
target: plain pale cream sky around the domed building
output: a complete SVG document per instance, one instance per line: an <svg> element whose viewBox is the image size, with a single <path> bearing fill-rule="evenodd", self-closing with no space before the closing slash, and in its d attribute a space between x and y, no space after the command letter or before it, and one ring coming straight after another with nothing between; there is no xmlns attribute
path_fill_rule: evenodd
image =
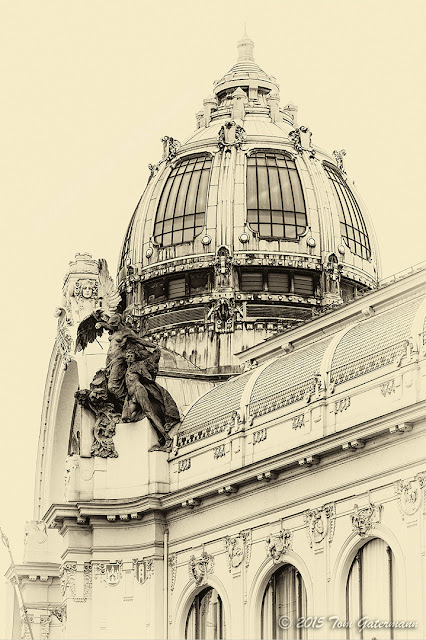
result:
<svg viewBox="0 0 426 640"><path fill-rule="evenodd" d="M213 81L236 62L244 22L256 62L278 80L281 104L299 106L315 145L346 150L383 275L426 259L426 10L423 0L3 0L1 7L0 526L21 561L53 311L68 262L88 251L115 274L161 137L184 141L195 129ZM7 566L0 546L1 574Z"/></svg>

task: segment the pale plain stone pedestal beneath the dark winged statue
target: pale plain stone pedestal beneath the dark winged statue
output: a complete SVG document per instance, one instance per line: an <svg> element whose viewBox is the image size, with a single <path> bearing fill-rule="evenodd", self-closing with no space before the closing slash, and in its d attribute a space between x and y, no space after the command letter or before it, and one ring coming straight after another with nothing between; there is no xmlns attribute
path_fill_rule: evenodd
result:
<svg viewBox="0 0 426 640"><path fill-rule="evenodd" d="M96 458L93 497L136 498L169 491L168 454L149 451L158 444L147 418L116 426L114 444L118 458Z"/></svg>

